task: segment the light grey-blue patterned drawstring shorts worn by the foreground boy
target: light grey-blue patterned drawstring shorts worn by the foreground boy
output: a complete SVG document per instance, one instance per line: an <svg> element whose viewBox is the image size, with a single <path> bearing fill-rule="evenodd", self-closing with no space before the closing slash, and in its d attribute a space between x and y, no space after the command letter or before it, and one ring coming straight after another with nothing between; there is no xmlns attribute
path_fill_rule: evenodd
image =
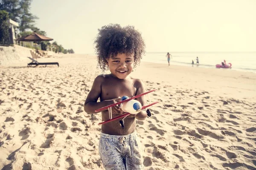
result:
<svg viewBox="0 0 256 170"><path fill-rule="evenodd" d="M144 170L143 151L136 132L125 136L101 133L99 155L106 170Z"/></svg>

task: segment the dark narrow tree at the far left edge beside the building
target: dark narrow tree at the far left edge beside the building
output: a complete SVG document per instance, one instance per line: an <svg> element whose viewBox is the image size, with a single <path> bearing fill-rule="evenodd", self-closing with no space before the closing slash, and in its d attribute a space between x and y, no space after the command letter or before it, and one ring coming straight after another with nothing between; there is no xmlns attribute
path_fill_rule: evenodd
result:
<svg viewBox="0 0 256 170"><path fill-rule="evenodd" d="M0 44L9 44L9 15L6 11L0 11Z"/></svg>

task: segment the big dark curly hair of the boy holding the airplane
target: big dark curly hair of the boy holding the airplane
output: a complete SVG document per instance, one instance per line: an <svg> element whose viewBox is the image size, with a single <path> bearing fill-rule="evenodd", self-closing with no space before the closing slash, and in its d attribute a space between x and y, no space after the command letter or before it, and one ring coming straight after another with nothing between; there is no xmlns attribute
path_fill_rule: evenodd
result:
<svg viewBox="0 0 256 170"><path fill-rule="evenodd" d="M98 60L97 68L104 72L108 69L106 60L117 54L134 56L134 68L140 63L145 54L145 43L139 31L134 26L121 27L119 24L109 24L98 29L99 34L94 43Z"/></svg>

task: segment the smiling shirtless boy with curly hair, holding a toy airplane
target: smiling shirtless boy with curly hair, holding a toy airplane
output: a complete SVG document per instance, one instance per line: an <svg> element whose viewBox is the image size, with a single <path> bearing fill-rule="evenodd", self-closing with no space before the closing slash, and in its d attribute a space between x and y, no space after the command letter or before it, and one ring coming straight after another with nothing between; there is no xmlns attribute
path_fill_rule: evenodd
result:
<svg viewBox="0 0 256 170"><path fill-rule="evenodd" d="M96 55L98 67L111 74L101 74L95 78L93 86L85 100L84 111L95 113L96 109L121 101L120 97L132 97L145 92L140 79L129 77L133 68L139 64L145 53L145 44L141 34L133 26L121 27L118 24L103 26L96 37ZM100 102L97 100L100 99ZM137 100L146 104L145 97ZM112 108L113 118L124 114L119 106ZM102 125L99 139L99 155L103 166L108 170L141 170L143 152L135 125L136 119L144 120L145 110L137 115L125 118L125 127L121 128L119 120ZM102 111L102 121L108 120L108 110Z"/></svg>

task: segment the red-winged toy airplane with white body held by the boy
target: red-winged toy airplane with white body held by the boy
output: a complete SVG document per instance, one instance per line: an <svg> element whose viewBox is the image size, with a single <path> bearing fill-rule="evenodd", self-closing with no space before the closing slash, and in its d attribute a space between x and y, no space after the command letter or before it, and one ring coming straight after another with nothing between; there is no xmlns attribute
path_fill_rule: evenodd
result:
<svg viewBox="0 0 256 170"><path fill-rule="evenodd" d="M130 115L130 114L137 114L137 113L139 113L142 109L145 109L145 108L148 108L148 107L151 106L151 105L157 104L159 101L153 102L153 103L151 103L151 104L149 104L149 105L141 106L141 104L140 104L139 101L134 100L134 99L136 99L136 98L138 98L138 97L140 97L140 96L143 96L143 95L145 95L145 94L151 93L152 91L156 91L156 90L157 90L157 89L154 89L154 90L151 90L151 91L147 91L147 92L145 92L145 93L143 93L143 94L139 94L139 95L133 96L133 97L131 97L131 98L128 98L128 96L123 96L123 97L122 97L122 101L117 102L117 103L114 103L114 104L112 104L112 105L105 106L105 107L103 107L103 108L97 109L95 112L100 112L100 111L104 111L104 110L108 109L108 114L109 114L109 120L104 121L104 122L100 122L99 125L102 125L102 124L105 124L105 123L108 123L108 122L112 122L112 121L114 121L114 120L116 120L116 119L119 119L119 118L122 118L122 117L126 117L126 116L128 116L128 115ZM121 115L121 116L117 116L117 117L115 117L115 118L112 119L111 107L116 106L116 105L119 105L119 104L121 104L121 109L122 109L122 111L128 112L128 113L125 113L125 114L123 114L123 115ZM151 112L150 112L149 109L147 109L147 115L148 115L148 117L151 116ZM125 119L125 118L124 118L124 119ZM124 119L122 119L122 120L119 121L119 123L120 123L120 125L121 125L122 128L125 127L125 125L124 125Z"/></svg>

